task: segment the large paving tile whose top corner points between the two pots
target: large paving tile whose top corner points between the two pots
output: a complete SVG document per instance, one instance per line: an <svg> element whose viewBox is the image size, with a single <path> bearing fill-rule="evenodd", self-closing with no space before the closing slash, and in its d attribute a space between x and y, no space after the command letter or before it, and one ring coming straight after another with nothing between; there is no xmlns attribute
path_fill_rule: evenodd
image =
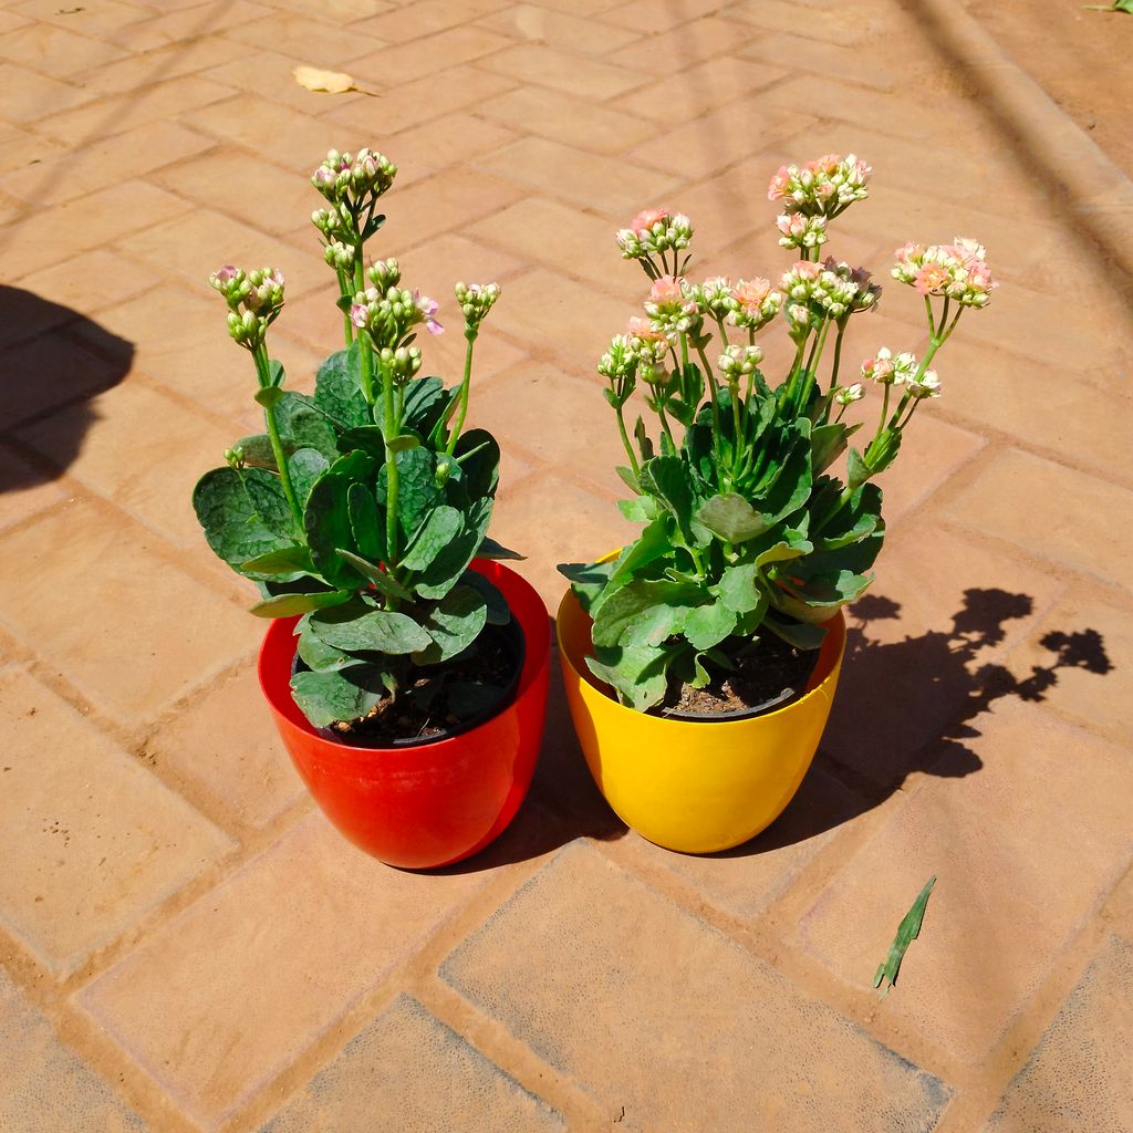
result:
<svg viewBox="0 0 1133 1133"><path fill-rule="evenodd" d="M568 938L570 963L555 962ZM441 976L612 1121L624 1107L631 1128L725 1128L742 1113L799 1133L927 1130L948 1100L940 1081L578 843ZM624 1034L647 1053L637 1070L621 1057Z"/></svg>

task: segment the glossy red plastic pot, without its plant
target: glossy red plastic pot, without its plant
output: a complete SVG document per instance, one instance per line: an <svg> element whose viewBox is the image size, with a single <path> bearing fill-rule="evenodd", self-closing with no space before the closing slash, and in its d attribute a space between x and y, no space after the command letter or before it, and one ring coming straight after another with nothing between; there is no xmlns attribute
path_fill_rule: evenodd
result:
<svg viewBox="0 0 1133 1133"><path fill-rule="evenodd" d="M533 587L501 563L477 559L472 569L508 599L526 651L516 698L468 732L415 748L329 740L291 698L298 619L272 622L259 650L259 685L307 789L341 834L390 866L431 869L483 850L516 816L535 772L547 707L547 611Z"/></svg>

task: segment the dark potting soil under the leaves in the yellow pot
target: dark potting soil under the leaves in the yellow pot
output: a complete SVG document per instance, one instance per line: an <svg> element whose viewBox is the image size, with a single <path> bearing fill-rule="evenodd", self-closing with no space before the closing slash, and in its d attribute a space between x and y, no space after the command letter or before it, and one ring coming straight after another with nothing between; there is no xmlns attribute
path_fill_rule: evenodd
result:
<svg viewBox="0 0 1133 1133"><path fill-rule="evenodd" d="M670 683L665 699L649 709L653 716L715 716L741 714L793 693L772 707L781 708L802 695L818 663L818 649L796 649L774 633L750 641L733 638L718 648L735 665L723 670L708 662L712 680L702 689Z"/></svg>

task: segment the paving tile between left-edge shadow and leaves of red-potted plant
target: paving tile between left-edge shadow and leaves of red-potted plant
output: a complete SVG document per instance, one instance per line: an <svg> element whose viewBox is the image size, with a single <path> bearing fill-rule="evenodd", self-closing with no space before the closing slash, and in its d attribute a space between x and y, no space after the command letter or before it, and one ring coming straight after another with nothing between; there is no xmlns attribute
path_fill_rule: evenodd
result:
<svg viewBox="0 0 1133 1133"><path fill-rule="evenodd" d="M24 428L22 440L92 491L181 546L201 528L187 506L193 486L223 465L231 431L164 394L125 382L91 401ZM82 438L78 452L76 438ZM174 471L176 469L176 471Z"/></svg>

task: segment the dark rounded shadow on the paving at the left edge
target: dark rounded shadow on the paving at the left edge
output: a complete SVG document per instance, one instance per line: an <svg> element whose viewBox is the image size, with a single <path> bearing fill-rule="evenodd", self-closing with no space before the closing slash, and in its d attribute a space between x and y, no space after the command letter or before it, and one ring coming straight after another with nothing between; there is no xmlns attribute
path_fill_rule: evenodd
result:
<svg viewBox="0 0 1133 1133"><path fill-rule="evenodd" d="M54 479L71 463L94 420L90 401L130 370L134 344L69 307L0 286L0 441L20 442L34 427L34 455L0 460L0 492ZM123 459L126 454L123 453Z"/></svg>

